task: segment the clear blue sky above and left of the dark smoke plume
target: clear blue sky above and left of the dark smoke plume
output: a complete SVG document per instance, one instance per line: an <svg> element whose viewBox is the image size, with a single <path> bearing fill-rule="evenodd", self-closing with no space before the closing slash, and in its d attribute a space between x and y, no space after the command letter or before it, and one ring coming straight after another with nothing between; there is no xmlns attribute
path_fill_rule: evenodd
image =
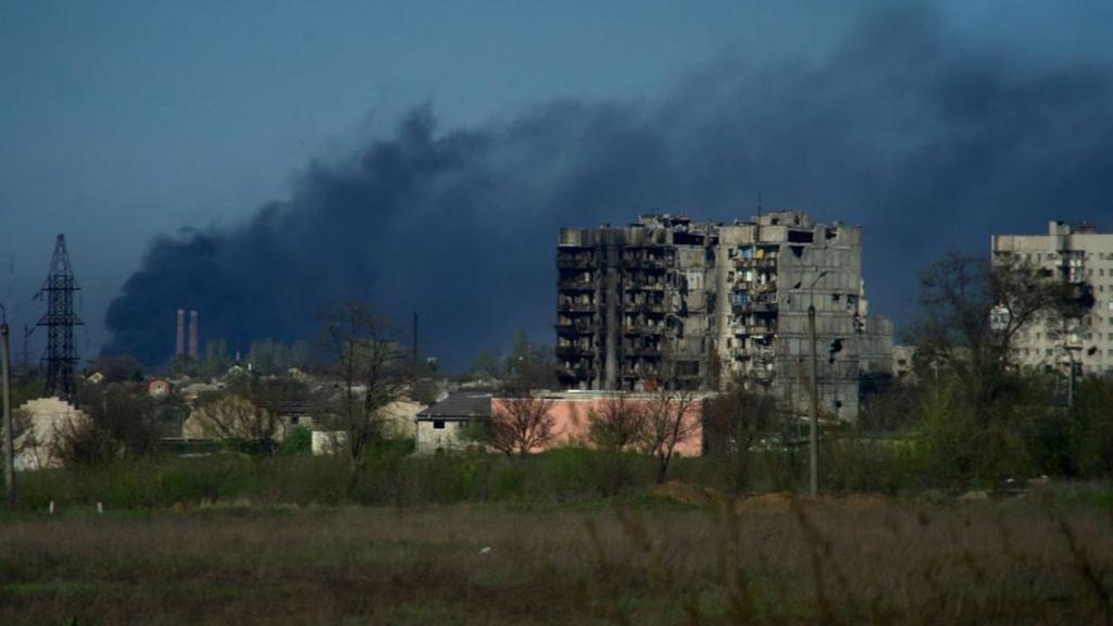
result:
<svg viewBox="0 0 1113 626"><path fill-rule="evenodd" d="M877 4L0 1L0 297L17 327L33 322L30 296L65 233L88 322L79 350L92 355L109 339L108 304L154 236L236 227L290 197L311 160L393 136L415 105L439 128L466 129L553 100L674 100L722 59L748 70L824 63ZM1113 3L938 7L945 46L1007 57L1014 75L1110 66ZM788 183L761 189L774 204L801 197L778 185ZM791 208L840 217L802 197L815 206ZM1109 198L1099 199L1068 216L1110 227ZM647 207L621 208L633 218ZM1002 229L1037 232L1057 208L989 211ZM737 217L751 213L739 206ZM860 221L868 248L871 224ZM987 246L987 235L953 243ZM554 237L535 244L548 257ZM892 260L866 258L868 288ZM892 293L870 293L879 313L913 295L881 286Z"/></svg>

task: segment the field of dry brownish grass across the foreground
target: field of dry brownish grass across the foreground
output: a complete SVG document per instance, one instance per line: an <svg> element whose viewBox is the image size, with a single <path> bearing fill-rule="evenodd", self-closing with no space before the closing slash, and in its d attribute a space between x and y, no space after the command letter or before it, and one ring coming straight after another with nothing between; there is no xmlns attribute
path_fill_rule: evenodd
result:
<svg viewBox="0 0 1113 626"><path fill-rule="evenodd" d="M1111 529L1094 507L788 496L17 516L0 624L1090 624Z"/></svg>

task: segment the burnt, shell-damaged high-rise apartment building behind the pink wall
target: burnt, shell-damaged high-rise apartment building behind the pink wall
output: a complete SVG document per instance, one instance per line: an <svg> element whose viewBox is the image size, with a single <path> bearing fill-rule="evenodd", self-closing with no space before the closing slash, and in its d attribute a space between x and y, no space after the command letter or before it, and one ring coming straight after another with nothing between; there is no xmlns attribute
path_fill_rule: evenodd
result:
<svg viewBox="0 0 1113 626"><path fill-rule="evenodd" d="M799 412L809 399L816 309L820 411L853 420L892 376L893 327L867 314L861 228L799 212L749 222L643 215L562 228L556 359L570 389L713 390L738 378Z"/></svg>

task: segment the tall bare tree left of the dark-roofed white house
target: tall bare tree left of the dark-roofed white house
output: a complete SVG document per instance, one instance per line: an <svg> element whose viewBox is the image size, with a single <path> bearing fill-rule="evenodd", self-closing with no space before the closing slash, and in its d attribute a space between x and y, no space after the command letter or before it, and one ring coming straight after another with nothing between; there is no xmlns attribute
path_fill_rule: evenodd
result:
<svg viewBox="0 0 1113 626"><path fill-rule="evenodd" d="M358 462L381 434L382 409L408 387L405 351L391 340L386 320L358 302L326 312L322 331L341 385L336 426L352 461Z"/></svg>

